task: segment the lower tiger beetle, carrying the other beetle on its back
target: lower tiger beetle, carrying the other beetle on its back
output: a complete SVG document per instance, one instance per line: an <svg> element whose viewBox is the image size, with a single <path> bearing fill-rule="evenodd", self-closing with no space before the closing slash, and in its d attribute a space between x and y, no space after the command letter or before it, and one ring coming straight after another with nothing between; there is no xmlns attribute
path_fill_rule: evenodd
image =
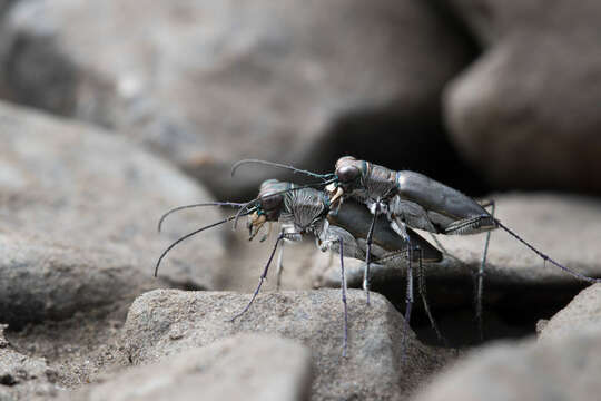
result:
<svg viewBox="0 0 601 401"><path fill-rule="evenodd" d="M277 287L279 287L280 282L284 243L286 241L298 242L305 234L312 234L315 236L316 244L321 251L325 252L331 250L337 252L341 256L341 287L344 309L343 355L346 355L348 339L348 314L346 304L346 276L344 272L343 257L347 256L364 260L365 253L367 252L366 242L359 239L366 239L367 235L371 233L371 246L374 250L372 257L374 263L393 266L407 265L405 311L406 327L404 331L404 339L406 339L406 333L408 332L408 322L411 319L411 309L413 304L413 273L411 262L418 262L418 290L424 303L424 309L434 331L436 332L436 335L442 342L445 342L427 304L425 277L423 273L423 262L440 262L442 260L442 254L439 250L432 246L426 239L421 237L411 228L407 227L407 237L410 238L410 242L407 242L404 238L398 237L390 225L385 224L384 222L373 222L371 214L365 209L365 207L352 199L344 204L337 205L336 213L331 213L331 199L328 194L324 190L317 190L309 186L299 186L292 183L268 179L260 185L258 197L247 203L210 202L173 208L164 214L160 218L159 232L165 218L169 214L184 208L199 206L231 206L237 207L238 213L217 223L196 229L175 241L159 256L155 268L155 275L158 273L158 267L162 258L171 248L183 241L208 228L230 221L237 221L237 218L240 216L248 216L248 239L252 241L255 238L255 236L267 224L268 232L263 236L262 241L264 241L272 232L272 223L279 222L282 225L279 235L276 238L274 248L269 254L267 264L263 270L263 274L259 277L258 285L255 288L250 301L242 312L231 319L231 321L235 321L246 313L255 301L260 291L263 282L267 277L269 265L272 264L278 245L280 247L277 261ZM414 247L415 253L407 252L410 244ZM407 255L412 255L413 261L407 260ZM405 344L405 340L403 344Z"/></svg>

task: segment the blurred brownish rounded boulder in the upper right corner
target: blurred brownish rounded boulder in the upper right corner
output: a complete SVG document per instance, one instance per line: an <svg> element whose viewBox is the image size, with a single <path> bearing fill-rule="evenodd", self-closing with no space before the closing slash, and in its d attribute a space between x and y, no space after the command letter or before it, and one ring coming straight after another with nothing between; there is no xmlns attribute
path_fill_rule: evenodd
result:
<svg viewBox="0 0 601 401"><path fill-rule="evenodd" d="M484 43L446 90L459 150L497 186L601 193L601 4L451 2Z"/></svg>

